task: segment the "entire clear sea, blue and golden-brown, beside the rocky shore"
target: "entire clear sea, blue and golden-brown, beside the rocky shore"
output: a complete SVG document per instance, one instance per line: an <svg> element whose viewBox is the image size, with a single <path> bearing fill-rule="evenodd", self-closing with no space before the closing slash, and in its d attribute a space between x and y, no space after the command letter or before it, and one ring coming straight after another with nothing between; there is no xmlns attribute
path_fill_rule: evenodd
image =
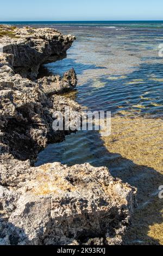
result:
<svg viewBox="0 0 163 256"><path fill-rule="evenodd" d="M63 25L63 24L62 24ZM53 25L51 25L53 26ZM55 26L77 36L67 58L45 65L52 74L74 68L78 86L66 94L92 111L111 111L112 132L79 131L49 145L36 165L90 162L137 187L138 207L124 243L163 244L163 42L161 23Z"/></svg>

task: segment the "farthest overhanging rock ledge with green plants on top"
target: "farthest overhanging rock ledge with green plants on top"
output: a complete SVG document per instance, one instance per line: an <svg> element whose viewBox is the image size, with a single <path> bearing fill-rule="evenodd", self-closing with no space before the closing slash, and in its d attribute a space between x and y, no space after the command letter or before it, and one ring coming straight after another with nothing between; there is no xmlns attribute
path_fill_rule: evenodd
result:
<svg viewBox="0 0 163 256"><path fill-rule="evenodd" d="M75 36L62 35L53 28L0 27L7 36L0 37L3 52L13 54L14 69L23 77L36 78L41 64L55 62L66 57ZM11 33L12 32L12 33Z"/></svg>

